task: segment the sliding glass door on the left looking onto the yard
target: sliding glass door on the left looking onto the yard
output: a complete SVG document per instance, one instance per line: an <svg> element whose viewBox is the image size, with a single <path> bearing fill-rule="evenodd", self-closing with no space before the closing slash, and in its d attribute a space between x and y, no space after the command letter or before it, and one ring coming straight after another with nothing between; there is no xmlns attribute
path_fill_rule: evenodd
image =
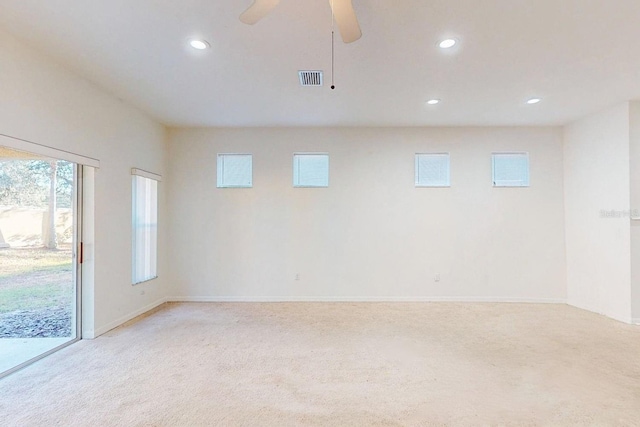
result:
<svg viewBox="0 0 640 427"><path fill-rule="evenodd" d="M0 375L80 338L80 172L0 146Z"/></svg>

